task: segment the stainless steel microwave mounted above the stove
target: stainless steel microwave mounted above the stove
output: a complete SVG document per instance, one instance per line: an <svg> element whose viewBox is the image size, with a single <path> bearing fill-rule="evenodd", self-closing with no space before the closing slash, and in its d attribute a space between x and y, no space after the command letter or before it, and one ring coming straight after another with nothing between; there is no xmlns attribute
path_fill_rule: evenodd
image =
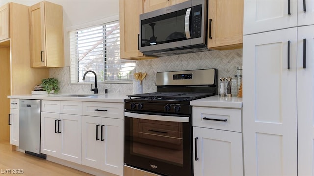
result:
<svg viewBox="0 0 314 176"><path fill-rule="evenodd" d="M139 50L166 56L208 50L207 0L188 0L140 15Z"/></svg>

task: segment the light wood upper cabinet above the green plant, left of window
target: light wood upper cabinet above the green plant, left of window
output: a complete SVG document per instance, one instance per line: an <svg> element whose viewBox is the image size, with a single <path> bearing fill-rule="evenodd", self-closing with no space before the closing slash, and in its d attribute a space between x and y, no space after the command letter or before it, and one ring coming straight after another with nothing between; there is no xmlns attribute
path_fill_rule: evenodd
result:
<svg viewBox="0 0 314 176"><path fill-rule="evenodd" d="M31 67L63 67L63 9L43 1L29 8Z"/></svg>

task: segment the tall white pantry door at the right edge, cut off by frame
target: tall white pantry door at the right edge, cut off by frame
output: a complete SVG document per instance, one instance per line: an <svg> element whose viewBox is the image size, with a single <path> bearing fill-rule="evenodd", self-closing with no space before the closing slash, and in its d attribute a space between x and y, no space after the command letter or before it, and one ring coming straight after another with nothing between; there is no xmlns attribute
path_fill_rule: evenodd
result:
<svg viewBox="0 0 314 176"><path fill-rule="evenodd" d="M304 41L305 39L305 41ZM303 49L306 49L305 52ZM305 68L303 68L305 56ZM314 25L298 27L298 175L314 173Z"/></svg>

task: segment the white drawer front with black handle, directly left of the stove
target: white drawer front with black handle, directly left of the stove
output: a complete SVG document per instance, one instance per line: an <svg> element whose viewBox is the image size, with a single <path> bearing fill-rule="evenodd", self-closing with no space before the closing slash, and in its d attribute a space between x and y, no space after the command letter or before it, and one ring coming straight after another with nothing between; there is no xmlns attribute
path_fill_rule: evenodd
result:
<svg viewBox="0 0 314 176"><path fill-rule="evenodd" d="M123 119L123 103L83 102L83 115Z"/></svg>

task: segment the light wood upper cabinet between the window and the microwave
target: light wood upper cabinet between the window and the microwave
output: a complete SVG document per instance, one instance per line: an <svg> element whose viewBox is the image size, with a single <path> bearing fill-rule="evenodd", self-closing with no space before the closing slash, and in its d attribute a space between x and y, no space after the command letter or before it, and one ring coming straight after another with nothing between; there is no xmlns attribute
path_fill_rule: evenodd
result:
<svg viewBox="0 0 314 176"><path fill-rule="evenodd" d="M139 15L143 13L143 1L119 0L120 58L131 60L151 59L138 49Z"/></svg>

